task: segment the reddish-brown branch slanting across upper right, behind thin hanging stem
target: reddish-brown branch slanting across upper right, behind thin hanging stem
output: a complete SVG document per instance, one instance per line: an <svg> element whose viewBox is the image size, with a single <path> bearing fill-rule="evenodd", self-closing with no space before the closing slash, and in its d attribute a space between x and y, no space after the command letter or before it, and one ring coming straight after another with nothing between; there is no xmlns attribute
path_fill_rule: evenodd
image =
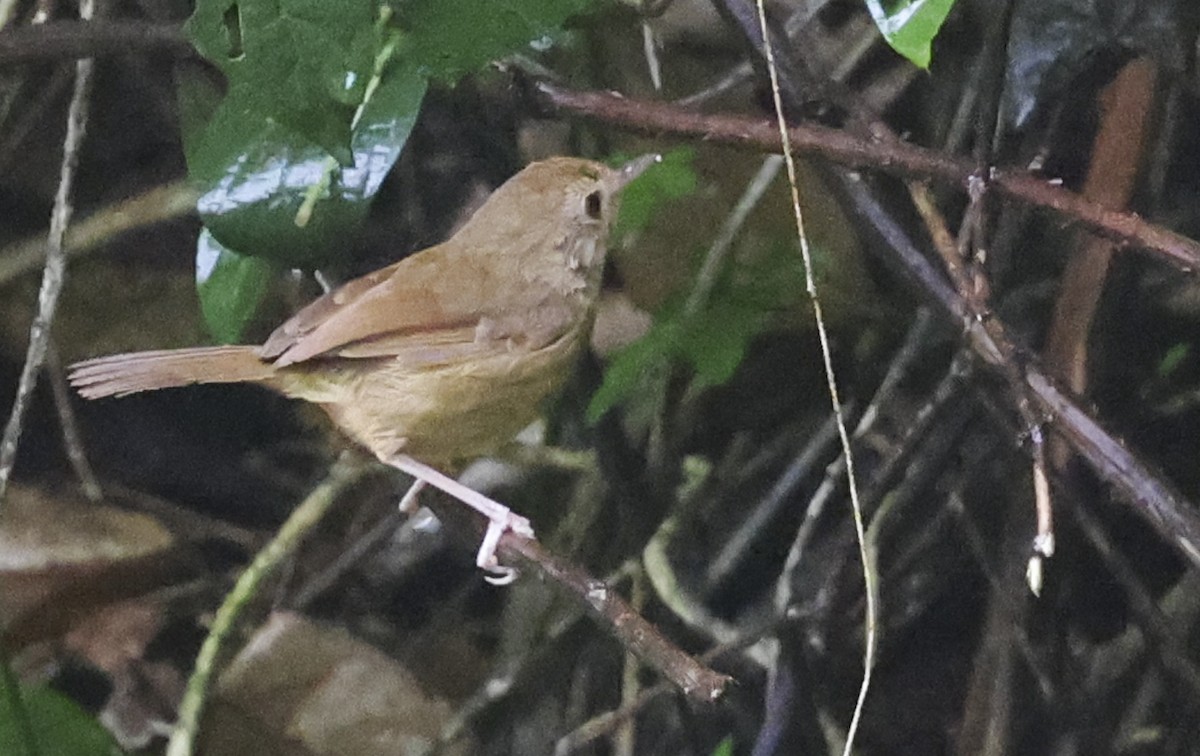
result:
<svg viewBox="0 0 1200 756"><path fill-rule="evenodd" d="M779 131L767 118L704 114L667 103L629 100L596 91L574 91L539 82L540 103L554 112L572 113L614 126L708 142L779 150ZM966 191L974 166L970 161L924 148L890 140L871 140L823 126L793 126L792 149L820 155L841 166L871 168L904 178L938 179ZM1106 210L1022 170L997 169L989 186L1013 199L1045 208L1067 221L1123 245L1144 248L1171 265L1192 272L1200 269L1200 242L1132 212Z"/></svg>

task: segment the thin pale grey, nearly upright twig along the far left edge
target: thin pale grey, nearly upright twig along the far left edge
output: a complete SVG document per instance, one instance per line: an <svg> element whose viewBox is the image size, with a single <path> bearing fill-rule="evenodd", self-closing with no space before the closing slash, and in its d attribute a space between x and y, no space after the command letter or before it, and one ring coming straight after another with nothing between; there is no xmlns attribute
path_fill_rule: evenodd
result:
<svg viewBox="0 0 1200 756"><path fill-rule="evenodd" d="M90 22L95 12L94 0L82 0L79 16ZM8 488L13 466L17 463L17 446L20 442L22 425L37 377L46 361L46 350L50 343L50 325L58 308L59 294L62 292L62 280L66 276L66 253L62 250L62 238L71 223L71 196L74 191L76 168L79 163L79 149L88 131L88 95L91 91L92 60L83 59L76 64L74 91L67 108L67 133L62 142L62 163L59 172L59 188L54 196L54 208L50 211L50 230L46 239L46 266L42 269L42 287L37 294L37 314L29 329L29 348L25 352L25 365L17 384L17 398L13 400L4 437L0 438L0 504Z"/></svg>

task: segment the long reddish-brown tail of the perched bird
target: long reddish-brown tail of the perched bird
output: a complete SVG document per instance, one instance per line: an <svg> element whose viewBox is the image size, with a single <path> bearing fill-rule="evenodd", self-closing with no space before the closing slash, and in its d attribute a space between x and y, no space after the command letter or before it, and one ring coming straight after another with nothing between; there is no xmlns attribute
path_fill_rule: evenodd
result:
<svg viewBox="0 0 1200 756"><path fill-rule="evenodd" d="M270 384L276 367L257 347L197 347L113 354L76 362L70 380L84 398L125 396L193 383Z"/></svg>

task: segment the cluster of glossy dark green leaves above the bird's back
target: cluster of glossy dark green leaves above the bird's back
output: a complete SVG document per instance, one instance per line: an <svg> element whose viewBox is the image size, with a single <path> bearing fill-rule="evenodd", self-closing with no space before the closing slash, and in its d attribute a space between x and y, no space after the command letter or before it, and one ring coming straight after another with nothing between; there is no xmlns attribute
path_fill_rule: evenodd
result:
<svg viewBox="0 0 1200 756"><path fill-rule="evenodd" d="M187 36L228 79L221 98L205 79L180 77L188 173L204 192L208 230L199 295L214 336L240 338L269 266L341 258L430 78L454 80L542 40L587 2L198 2Z"/></svg>

